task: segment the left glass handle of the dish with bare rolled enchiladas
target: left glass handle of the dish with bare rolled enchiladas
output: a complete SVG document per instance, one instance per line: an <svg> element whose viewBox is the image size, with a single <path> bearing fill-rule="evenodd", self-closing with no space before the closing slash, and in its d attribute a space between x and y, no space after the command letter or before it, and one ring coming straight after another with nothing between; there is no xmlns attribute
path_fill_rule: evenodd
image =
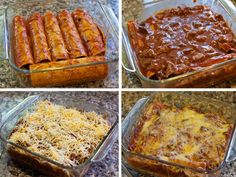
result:
<svg viewBox="0 0 236 177"><path fill-rule="evenodd" d="M6 9L0 8L0 59L8 59Z"/></svg>

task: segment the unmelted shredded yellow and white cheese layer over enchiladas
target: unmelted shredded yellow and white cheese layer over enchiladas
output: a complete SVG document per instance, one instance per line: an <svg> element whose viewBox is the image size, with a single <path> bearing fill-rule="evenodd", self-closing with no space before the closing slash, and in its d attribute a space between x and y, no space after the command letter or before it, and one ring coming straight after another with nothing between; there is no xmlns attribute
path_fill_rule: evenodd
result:
<svg viewBox="0 0 236 177"><path fill-rule="evenodd" d="M90 157L110 129L95 112L80 112L39 102L16 126L9 140L63 165L76 166Z"/></svg>

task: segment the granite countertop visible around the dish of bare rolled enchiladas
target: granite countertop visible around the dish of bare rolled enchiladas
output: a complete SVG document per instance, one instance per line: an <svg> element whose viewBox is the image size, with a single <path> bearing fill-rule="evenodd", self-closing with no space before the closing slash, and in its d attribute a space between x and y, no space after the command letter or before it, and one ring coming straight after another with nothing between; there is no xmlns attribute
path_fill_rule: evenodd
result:
<svg viewBox="0 0 236 177"><path fill-rule="evenodd" d="M0 1L0 8L7 7L15 2L25 2L28 0L1 0ZM66 0L60 0L64 2ZM68 0L67 0L68 1ZM118 17L118 7L119 7L119 0L100 0L104 4L110 6L115 15ZM66 86L66 87L73 87L73 88L118 88L119 86L119 79L118 79L118 71L111 74L107 79L103 81L95 81L95 82L88 82L84 84ZM13 73L12 68L9 66L7 60L0 60L0 88L19 88L24 87L20 84L18 79L15 77L15 73Z"/></svg>

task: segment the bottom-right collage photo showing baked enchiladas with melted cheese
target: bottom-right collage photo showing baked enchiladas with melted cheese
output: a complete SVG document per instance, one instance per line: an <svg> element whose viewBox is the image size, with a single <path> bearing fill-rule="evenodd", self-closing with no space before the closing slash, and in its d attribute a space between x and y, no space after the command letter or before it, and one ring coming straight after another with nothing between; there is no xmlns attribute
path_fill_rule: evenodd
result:
<svg viewBox="0 0 236 177"><path fill-rule="evenodd" d="M123 177L236 176L235 92L123 92Z"/></svg>

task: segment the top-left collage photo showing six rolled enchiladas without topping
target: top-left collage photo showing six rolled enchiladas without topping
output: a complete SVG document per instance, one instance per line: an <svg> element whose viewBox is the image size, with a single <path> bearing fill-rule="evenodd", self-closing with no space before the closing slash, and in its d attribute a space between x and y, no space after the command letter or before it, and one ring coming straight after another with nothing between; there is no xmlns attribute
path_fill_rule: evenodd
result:
<svg viewBox="0 0 236 177"><path fill-rule="evenodd" d="M118 88L118 0L0 2L0 87Z"/></svg>

